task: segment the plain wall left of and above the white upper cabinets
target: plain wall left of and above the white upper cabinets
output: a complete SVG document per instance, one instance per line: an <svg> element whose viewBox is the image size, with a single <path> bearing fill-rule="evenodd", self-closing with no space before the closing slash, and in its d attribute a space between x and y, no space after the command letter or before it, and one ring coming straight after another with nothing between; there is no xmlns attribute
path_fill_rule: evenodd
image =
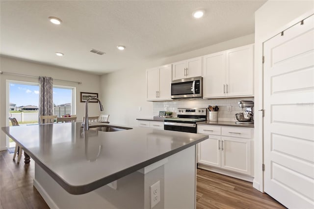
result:
<svg viewBox="0 0 314 209"><path fill-rule="evenodd" d="M110 114L110 123L136 126L136 118L154 116L153 102L146 101L146 69L252 43L254 43L254 34L162 60L143 61L141 66L130 66L129 69L103 75L101 99L105 104L106 112ZM139 106L141 106L141 111L139 111Z"/></svg>

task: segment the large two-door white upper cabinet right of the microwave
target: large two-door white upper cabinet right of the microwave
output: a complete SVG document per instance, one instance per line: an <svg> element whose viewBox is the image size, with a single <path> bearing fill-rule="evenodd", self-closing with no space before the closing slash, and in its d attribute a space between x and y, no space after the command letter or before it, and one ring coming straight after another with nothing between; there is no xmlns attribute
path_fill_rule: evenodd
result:
<svg viewBox="0 0 314 209"><path fill-rule="evenodd" d="M253 96L253 47L203 56L204 98Z"/></svg>

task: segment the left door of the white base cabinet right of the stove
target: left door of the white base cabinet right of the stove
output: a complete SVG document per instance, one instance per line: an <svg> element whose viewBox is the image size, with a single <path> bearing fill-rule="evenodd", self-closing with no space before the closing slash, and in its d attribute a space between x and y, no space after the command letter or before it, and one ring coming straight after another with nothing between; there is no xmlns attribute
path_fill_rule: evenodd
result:
<svg viewBox="0 0 314 209"><path fill-rule="evenodd" d="M205 165L221 167L219 135L209 135L209 138L198 145L197 162Z"/></svg>

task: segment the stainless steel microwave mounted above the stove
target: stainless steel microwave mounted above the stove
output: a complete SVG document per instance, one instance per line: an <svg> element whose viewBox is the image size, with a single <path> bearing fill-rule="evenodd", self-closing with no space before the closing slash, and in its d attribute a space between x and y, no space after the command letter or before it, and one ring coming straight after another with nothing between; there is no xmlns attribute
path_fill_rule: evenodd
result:
<svg viewBox="0 0 314 209"><path fill-rule="evenodd" d="M183 78L171 82L171 98L198 98L203 97L203 78Z"/></svg>

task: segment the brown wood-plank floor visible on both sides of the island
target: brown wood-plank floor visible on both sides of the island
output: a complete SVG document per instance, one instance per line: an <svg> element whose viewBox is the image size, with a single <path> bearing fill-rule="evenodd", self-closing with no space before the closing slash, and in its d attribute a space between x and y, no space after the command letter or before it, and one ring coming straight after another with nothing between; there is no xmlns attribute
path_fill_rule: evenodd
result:
<svg viewBox="0 0 314 209"><path fill-rule="evenodd" d="M33 187L34 161L29 165L0 152L0 209L49 209ZM197 169L197 209L281 209L285 208L252 183Z"/></svg>

